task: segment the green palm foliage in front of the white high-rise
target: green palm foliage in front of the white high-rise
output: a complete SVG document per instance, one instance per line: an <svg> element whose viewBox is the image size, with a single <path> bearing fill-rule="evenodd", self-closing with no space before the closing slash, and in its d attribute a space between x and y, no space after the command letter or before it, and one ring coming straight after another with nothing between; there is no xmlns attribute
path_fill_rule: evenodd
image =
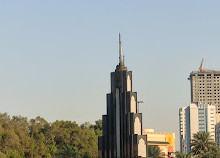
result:
<svg viewBox="0 0 220 158"><path fill-rule="evenodd" d="M197 132L196 134L194 134L191 147L192 147L191 153L195 157L199 157L199 158L220 157L219 147L216 145L215 141L211 138L210 133Z"/></svg>

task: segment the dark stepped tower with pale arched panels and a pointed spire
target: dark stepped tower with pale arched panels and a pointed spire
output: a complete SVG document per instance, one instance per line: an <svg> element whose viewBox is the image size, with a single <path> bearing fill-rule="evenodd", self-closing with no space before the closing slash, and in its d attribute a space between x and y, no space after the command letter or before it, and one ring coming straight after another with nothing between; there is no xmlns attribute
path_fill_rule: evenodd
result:
<svg viewBox="0 0 220 158"><path fill-rule="evenodd" d="M107 115L102 116L103 132L98 140L99 158L147 157L142 114L137 112L137 92L132 92L132 72L124 65L119 34L119 65L111 73Z"/></svg>

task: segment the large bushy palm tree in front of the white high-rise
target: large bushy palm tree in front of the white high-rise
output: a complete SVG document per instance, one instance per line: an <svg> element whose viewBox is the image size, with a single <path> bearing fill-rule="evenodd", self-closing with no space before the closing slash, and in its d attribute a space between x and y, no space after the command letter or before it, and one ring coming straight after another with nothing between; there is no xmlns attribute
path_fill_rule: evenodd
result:
<svg viewBox="0 0 220 158"><path fill-rule="evenodd" d="M191 152L193 153L193 155L200 155L199 157L202 157L202 155L208 152L215 152L215 150L217 152L219 149L216 149L215 146L217 145L211 138L210 133L197 132L196 134L193 134L193 139L191 143Z"/></svg>

